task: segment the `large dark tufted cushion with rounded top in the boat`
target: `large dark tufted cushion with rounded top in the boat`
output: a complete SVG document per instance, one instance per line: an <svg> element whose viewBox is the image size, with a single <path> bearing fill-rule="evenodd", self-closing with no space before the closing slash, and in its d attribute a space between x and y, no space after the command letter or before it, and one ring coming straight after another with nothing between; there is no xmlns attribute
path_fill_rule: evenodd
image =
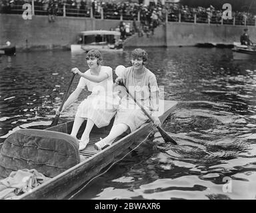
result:
<svg viewBox="0 0 256 213"><path fill-rule="evenodd" d="M12 171L36 169L53 177L80 162L78 140L62 132L23 129L13 132L0 150L0 177Z"/></svg>

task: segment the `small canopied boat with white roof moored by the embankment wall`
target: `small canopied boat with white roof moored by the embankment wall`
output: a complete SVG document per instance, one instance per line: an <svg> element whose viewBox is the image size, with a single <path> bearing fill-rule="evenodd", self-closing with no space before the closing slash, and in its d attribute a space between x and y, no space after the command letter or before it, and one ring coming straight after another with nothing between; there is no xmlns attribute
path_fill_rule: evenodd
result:
<svg viewBox="0 0 256 213"><path fill-rule="evenodd" d="M71 53L83 53L90 49L99 51L123 51L118 31L82 31L77 35L77 43L71 45Z"/></svg>

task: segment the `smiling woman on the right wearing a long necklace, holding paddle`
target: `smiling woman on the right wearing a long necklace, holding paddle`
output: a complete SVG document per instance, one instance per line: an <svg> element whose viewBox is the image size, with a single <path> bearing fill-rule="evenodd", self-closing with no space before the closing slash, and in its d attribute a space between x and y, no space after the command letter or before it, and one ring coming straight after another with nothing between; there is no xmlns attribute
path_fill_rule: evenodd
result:
<svg viewBox="0 0 256 213"><path fill-rule="evenodd" d="M158 116L159 88L155 75L145 67L147 64L147 52L143 49L135 49L131 53L131 67L127 67L119 72L116 83L123 83L129 93L152 115L155 125L161 124ZM123 67L123 66L118 66ZM116 69L117 73L117 69ZM125 95L121 99L121 105L117 110L115 121L109 135L95 143L97 150L102 150L109 146L117 136L127 130L133 132L149 118L137 106L135 101Z"/></svg>

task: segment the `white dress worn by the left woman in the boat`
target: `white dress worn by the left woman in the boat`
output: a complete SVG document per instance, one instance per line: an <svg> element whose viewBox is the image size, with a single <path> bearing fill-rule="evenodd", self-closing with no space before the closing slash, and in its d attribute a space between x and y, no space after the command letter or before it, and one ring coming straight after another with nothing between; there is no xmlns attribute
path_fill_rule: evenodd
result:
<svg viewBox="0 0 256 213"><path fill-rule="evenodd" d="M91 75L90 70L85 73ZM101 128L107 126L117 112L120 98L113 93L112 68L101 66L99 73L106 73L108 78L100 83L89 81L83 77L80 78L77 87L85 89L86 86L91 95L81 102L75 116L89 118L93 120L98 128Z"/></svg>

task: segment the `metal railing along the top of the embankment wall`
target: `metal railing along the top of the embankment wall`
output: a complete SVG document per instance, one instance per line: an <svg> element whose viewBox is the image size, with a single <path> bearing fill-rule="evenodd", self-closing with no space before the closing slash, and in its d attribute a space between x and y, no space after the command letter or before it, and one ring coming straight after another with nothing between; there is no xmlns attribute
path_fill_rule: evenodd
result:
<svg viewBox="0 0 256 213"><path fill-rule="evenodd" d="M47 11L47 7L43 4L38 5L38 3L33 3L32 1L32 11L33 15L49 15ZM25 9L22 8L23 5L12 5L9 7L2 7L1 13L7 14L23 14ZM67 3L63 3L61 7L58 7L55 11L54 15L62 16L62 17L91 17L95 19L115 19L115 20L127 20L132 21L140 21L143 16L141 12L137 12L134 14L134 11L131 13L120 13L117 9L106 9L101 8L99 11L94 11L91 6L83 7L83 9L77 8L76 6L69 5ZM222 16L219 15L211 15L211 17L207 14L196 14L196 13L179 13L177 11L170 11L165 14L165 22L179 22L179 23L208 23L210 24L219 24L219 25L244 25L244 26L255 26L256 27L256 19L247 18L240 16L234 16L232 19L223 19Z"/></svg>

